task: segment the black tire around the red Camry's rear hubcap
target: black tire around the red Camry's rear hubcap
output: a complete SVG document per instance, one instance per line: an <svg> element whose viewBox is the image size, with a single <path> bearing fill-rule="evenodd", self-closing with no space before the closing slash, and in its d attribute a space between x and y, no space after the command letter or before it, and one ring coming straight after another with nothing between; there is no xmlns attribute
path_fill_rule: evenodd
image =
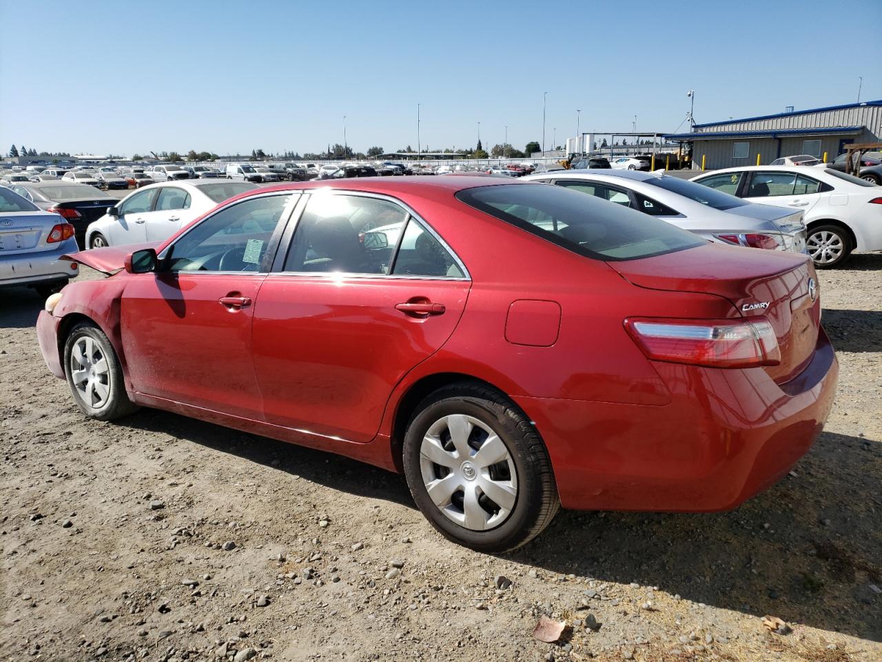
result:
<svg viewBox="0 0 882 662"><path fill-rule="evenodd" d="M451 414L466 414L488 425L503 441L517 474L517 495L507 518L489 530L471 530L452 521L431 500L422 478L420 447L430 426ZM496 389L460 382L438 389L416 408L407 424L403 454L407 485L416 505L448 540L478 552L502 553L526 545L557 515L560 500L548 451L533 425Z"/></svg>

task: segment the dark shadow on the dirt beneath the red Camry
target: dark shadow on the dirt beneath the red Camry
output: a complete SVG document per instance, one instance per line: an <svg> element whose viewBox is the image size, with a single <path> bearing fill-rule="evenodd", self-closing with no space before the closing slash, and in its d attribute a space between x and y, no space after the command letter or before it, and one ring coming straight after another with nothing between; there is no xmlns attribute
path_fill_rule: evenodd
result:
<svg viewBox="0 0 882 662"><path fill-rule="evenodd" d="M276 470L415 508L402 477L336 455L161 411L143 410L123 424L266 466L278 461ZM882 640L882 596L869 586L882 579L882 444L823 433L795 473L727 513L562 511L507 558Z"/></svg>

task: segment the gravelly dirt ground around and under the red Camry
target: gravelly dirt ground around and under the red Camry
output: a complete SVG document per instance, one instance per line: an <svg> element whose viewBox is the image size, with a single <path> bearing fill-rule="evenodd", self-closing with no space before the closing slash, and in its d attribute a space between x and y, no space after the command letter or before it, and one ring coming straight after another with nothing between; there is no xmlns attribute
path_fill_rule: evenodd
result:
<svg viewBox="0 0 882 662"><path fill-rule="evenodd" d="M882 659L882 254L819 280L841 381L789 477L723 514L562 512L506 556L438 536L382 470L84 418L43 365L41 300L4 291L0 659Z"/></svg>

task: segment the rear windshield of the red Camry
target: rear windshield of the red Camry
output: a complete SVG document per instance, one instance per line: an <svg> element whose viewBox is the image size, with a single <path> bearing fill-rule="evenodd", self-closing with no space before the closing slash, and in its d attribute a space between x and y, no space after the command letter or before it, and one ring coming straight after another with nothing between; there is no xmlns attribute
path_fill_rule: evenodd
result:
<svg viewBox="0 0 882 662"><path fill-rule="evenodd" d="M647 214L549 184L460 191L470 207L594 260L638 260L706 242Z"/></svg>

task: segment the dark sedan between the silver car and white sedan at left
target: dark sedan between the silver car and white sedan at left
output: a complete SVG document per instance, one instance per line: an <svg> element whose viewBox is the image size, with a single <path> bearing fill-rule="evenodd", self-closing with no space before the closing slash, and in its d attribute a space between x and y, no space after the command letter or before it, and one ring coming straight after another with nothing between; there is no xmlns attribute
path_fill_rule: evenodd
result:
<svg viewBox="0 0 882 662"><path fill-rule="evenodd" d="M15 184L12 191L33 202L42 210L60 215L71 223L77 244L86 247L86 227L100 218L116 199L89 184L76 184L64 179L56 182Z"/></svg>

